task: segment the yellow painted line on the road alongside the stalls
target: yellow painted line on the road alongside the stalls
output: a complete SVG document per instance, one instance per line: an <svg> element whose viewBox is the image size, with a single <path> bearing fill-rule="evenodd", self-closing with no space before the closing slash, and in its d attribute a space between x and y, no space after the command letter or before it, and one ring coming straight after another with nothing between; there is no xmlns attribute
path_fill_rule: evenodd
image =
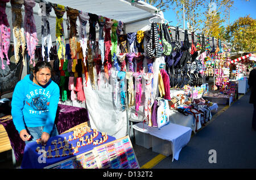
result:
<svg viewBox="0 0 256 180"><path fill-rule="evenodd" d="M244 95L240 95L238 96L238 100L240 100L241 97L243 97ZM236 100L237 101L237 100ZM232 105L234 102L236 101L233 101L230 105ZM230 106L229 105L226 105L224 108L222 108L219 112L217 112L216 114L213 115L212 119L208 122L212 122L218 115L224 113ZM208 125L207 123L207 125ZM205 126L204 126L205 127ZM200 130L202 128L204 128L203 126L200 128ZM191 136L191 138L193 137L193 135ZM148 161L146 164L144 164L143 166L141 166L141 169L151 169L153 168L155 165L157 165L160 161L162 161L164 158L166 158L166 156L164 155L157 155L155 156L154 158L152 158L150 161Z"/></svg>

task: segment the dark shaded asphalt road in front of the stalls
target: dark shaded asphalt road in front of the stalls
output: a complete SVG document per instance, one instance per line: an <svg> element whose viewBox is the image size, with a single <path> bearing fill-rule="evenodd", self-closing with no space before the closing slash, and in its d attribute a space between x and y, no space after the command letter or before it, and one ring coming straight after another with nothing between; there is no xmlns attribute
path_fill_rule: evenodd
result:
<svg viewBox="0 0 256 180"><path fill-rule="evenodd" d="M212 122L192 136L181 150L178 161L171 162L171 155L151 168L256 168L256 131L251 128L253 105L248 103L249 97L250 92L225 111L222 110L223 113L218 113ZM209 154L211 149L216 154ZM135 144L134 151L140 166L158 155L152 152L152 148L146 149ZM216 163L209 163L209 157L210 160L216 160Z"/></svg>

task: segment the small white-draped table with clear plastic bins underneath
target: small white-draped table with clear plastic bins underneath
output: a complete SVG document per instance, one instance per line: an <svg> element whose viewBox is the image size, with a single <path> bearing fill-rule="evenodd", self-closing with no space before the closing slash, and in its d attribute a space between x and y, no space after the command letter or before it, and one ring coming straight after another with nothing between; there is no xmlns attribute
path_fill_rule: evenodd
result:
<svg viewBox="0 0 256 180"><path fill-rule="evenodd" d="M159 129L140 122L133 125L133 128L135 131L143 132L143 134L150 134L152 151L165 156L172 154L172 161L179 159L179 153L189 142L192 132L191 128L175 125L174 123L168 123L168 125Z"/></svg>

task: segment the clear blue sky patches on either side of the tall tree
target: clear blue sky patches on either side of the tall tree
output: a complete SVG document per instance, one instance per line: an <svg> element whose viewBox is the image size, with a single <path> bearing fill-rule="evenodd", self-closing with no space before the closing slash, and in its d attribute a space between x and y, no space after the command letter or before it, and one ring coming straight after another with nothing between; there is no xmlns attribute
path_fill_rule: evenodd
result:
<svg viewBox="0 0 256 180"><path fill-rule="evenodd" d="M230 23L249 14L251 18L256 19L256 0L250 0L249 2L245 0L234 0L234 5L230 10ZM172 21L172 23L170 23L171 25L181 25L180 28L183 28L183 22L177 24L175 17L176 14L172 9L164 12L164 19L168 20L168 22ZM185 25L187 26L187 23L185 23ZM226 26L226 24L224 24L224 26Z"/></svg>

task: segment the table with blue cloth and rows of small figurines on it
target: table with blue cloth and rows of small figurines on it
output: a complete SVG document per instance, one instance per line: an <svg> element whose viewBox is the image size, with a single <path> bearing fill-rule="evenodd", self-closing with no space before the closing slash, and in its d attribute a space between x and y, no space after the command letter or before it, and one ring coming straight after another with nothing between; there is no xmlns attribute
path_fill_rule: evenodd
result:
<svg viewBox="0 0 256 180"><path fill-rule="evenodd" d="M104 134L102 134L102 132L97 132L97 131L94 132L93 130L90 130L90 128L88 130L88 127L82 127L80 129L84 129L84 128L87 128L85 129L86 133L82 135L84 140L81 140L80 135L76 135L74 131L71 131L65 134L61 134L59 136L54 136L49 138L45 147L42 147L42 145L38 144L37 142L31 142L26 144L26 147L24 149L21 168L24 168L24 169L44 168L46 166L66 160L73 156L78 156L81 153L90 151L94 147L97 147L98 145L102 145L102 144L94 144L94 142L96 141L100 142L101 139L104 139ZM79 134L81 131L77 131L77 132L78 132L77 134ZM88 137L86 138L86 136ZM106 135L106 136L108 137L108 139L106 139L105 142L103 143L109 143L115 140L113 136L109 136L109 135ZM92 138L93 142L90 141L90 137L93 137ZM65 139L67 140L66 142L65 142ZM69 139L72 139L72 140L69 141ZM88 143L88 139L91 143ZM55 144L52 142L55 142ZM43 157L44 152L46 153L46 157Z"/></svg>

